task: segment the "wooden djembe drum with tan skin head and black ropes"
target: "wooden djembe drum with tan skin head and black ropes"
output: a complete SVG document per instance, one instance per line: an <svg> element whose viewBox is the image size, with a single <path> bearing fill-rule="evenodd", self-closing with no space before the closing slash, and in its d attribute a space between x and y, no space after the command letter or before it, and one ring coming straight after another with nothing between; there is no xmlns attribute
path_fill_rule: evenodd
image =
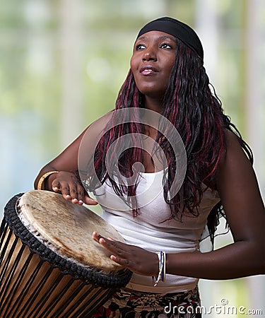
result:
<svg viewBox="0 0 265 318"><path fill-rule="evenodd" d="M0 234L0 317L91 317L131 272L92 240L124 241L100 216L61 194L30 191L6 204Z"/></svg>

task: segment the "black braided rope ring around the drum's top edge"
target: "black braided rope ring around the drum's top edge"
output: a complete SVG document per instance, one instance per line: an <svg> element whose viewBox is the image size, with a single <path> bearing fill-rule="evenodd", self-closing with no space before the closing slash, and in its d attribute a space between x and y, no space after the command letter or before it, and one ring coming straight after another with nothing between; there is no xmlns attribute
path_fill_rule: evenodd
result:
<svg viewBox="0 0 265 318"><path fill-rule="evenodd" d="M19 237L23 245L28 246L30 252L37 254L42 261L47 261L53 268L58 268L61 273L71 275L74 279L80 279L83 283L93 284L95 287L102 288L122 288L131 278L131 271L123 269L113 273L102 273L99 271L92 271L85 267L75 264L63 257L59 256L56 252L49 249L42 242L28 231L28 229L21 222L16 206L20 196L24 193L16 194L13 196L4 208L4 221L8 227L13 231L16 237Z"/></svg>

